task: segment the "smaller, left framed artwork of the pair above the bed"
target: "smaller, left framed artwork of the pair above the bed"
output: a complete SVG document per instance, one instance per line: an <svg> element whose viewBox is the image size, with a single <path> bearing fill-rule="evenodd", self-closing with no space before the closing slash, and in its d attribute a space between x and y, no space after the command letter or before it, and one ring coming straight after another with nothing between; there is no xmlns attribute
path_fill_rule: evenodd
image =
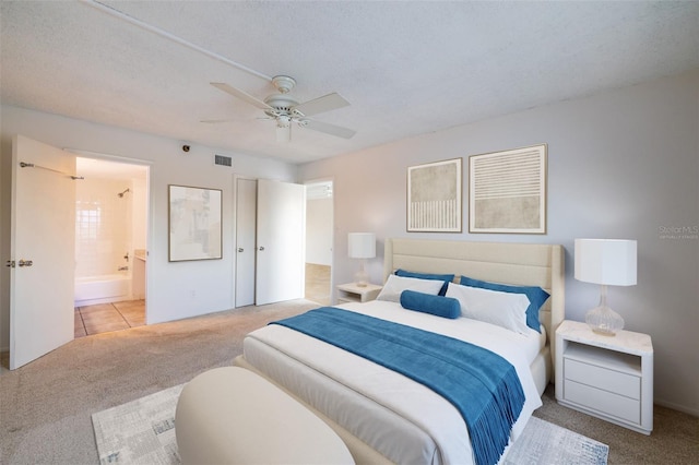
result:
<svg viewBox="0 0 699 465"><path fill-rule="evenodd" d="M407 168L408 233L461 233L461 158Z"/></svg>

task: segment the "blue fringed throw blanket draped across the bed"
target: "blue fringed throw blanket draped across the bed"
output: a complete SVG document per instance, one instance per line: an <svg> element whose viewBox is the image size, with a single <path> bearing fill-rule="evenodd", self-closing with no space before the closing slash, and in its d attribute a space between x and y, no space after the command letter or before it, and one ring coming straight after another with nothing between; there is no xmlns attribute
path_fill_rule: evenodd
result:
<svg viewBox="0 0 699 465"><path fill-rule="evenodd" d="M463 341L331 307L271 324L335 345L440 394L463 416L478 465L499 461L524 406L514 367Z"/></svg>

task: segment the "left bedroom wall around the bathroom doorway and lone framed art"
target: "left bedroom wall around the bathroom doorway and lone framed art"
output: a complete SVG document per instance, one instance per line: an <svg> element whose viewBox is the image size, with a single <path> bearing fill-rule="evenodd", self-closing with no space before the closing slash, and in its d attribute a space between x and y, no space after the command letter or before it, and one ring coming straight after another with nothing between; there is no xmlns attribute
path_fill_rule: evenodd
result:
<svg viewBox="0 0 699 465"><path fill-rule="evenodd" d="M234 298L234 174L295 181L297 168L273 159L261 159L180 141L106 127L10 106L0 107L0 252L10 253L11 138L24 134L66 148L145 160L151 166L151 212L147 262L147 322L157 323L235 307ZM233 170L213 165L214 154L233 157ZM168 262L167 186L182 184L223 190L223 259ZM0 271L0 347L9 347L10 273Z"/></svg>

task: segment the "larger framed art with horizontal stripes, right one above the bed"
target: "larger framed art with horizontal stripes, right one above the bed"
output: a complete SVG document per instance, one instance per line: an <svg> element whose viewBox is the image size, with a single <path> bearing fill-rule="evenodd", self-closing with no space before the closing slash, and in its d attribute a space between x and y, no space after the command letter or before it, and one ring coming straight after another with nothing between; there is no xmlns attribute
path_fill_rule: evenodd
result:
<svg viewBox="0 0 699 465"><path fill-rule="evenodd" d="M546 144L469 157L469 233L546 234Z"/></svg>

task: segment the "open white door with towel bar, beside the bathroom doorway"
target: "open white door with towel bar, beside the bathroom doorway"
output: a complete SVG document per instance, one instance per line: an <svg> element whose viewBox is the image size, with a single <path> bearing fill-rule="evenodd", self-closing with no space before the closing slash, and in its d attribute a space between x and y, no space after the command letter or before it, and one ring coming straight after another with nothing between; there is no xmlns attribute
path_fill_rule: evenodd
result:
<svg viewBox="0 0 699 465"><path fill-rule="evenodd" d="M25 167L22 167L24 165ZM12 140L10 369L73 339L75 156Z"/></svg>

